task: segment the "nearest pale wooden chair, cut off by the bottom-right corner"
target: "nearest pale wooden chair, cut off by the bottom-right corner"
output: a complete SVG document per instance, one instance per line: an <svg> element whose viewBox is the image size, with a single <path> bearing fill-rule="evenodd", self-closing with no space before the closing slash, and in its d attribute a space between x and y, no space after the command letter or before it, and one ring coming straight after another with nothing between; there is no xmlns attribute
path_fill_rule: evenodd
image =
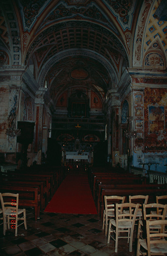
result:
<svg viewBox="0 0 167 256"><path fill-rule="evenodd" d="M158 220L148 219L145 221L145 223L146 223L146 229L145 229L146 238L140 238L138 236L136 256L166 255L167 253L167 219L158 219ZM157 226L159 226L160 228L157 229Z"/></svg>

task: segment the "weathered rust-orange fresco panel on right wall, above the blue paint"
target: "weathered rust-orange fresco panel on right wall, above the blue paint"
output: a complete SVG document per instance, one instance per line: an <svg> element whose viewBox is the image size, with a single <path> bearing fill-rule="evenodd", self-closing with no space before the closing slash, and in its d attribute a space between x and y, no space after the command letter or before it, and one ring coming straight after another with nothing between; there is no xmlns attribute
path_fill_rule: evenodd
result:
<svg viewBox="0 0 167 256"><path fill-rule="evenodd" d="M167 89L146 88L144 112L145 151L167 150Z"/></svg>

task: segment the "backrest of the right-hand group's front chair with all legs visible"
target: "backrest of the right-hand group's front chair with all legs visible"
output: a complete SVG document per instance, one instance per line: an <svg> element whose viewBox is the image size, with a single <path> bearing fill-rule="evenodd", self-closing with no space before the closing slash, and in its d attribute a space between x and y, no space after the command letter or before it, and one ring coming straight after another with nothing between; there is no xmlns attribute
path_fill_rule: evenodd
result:
<svg viewBox="0 0 167 256"><path fill-rule="evenodd" d="M130 221L134 225L139 205L139 203L132 202L116 203L116 224Z"/></svg>

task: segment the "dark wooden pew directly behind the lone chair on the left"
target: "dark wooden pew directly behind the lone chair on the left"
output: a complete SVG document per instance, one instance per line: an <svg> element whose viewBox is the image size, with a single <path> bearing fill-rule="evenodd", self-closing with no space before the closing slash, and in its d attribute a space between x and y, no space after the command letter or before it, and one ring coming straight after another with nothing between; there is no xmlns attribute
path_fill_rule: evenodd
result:
<svg viewBox="0 0 167 256"><path fill-rule="evenodd" d="M37 187L1 185L0 192L19 193L19 206L34 207L35 220L40 218L40 194Z"/></svg>

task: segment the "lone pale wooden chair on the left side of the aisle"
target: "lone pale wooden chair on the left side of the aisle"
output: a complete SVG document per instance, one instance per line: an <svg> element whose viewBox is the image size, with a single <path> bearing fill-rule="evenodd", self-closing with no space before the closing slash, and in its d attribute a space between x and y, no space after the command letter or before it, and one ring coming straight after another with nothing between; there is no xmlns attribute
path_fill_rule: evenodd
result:
<svg viewBox="0 0 167 256"><path fill-rule="evenodd" d="M3 234L5 235L5 231L10 228L10 225L15 228L15 236L17 227L21 224L24 223L25 229L27 229L26 211L18 208L18 193L0 193L0 201L3 212ZM18 220L23 221L18 224Z"/></svg>

